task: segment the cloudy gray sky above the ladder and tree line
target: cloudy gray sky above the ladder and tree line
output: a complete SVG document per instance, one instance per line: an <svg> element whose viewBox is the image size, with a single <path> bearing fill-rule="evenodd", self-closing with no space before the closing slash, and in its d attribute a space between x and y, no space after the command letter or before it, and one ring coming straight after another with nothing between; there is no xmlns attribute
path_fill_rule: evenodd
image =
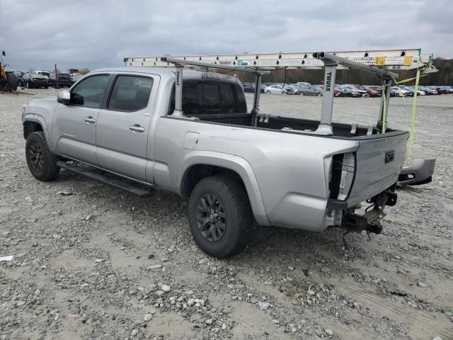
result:
<svg viewBox="0 0 453 340"><path fill-rule="evenodd" d="M453 1L0 0L0 50L10 69L96 69L166 53L400 47L453 58Z"/></svg>

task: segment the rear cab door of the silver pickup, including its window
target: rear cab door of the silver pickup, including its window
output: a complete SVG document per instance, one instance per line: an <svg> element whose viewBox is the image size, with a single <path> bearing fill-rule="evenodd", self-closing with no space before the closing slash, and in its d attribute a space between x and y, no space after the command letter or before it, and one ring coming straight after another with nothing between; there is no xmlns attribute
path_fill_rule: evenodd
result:
<svg viewBox="0 0 453 340"><path fill-rule="evenodd" d="M96 128L96 157L103 169L152 183L146 178L147 147L158 86L156 75L115 74Z"/></svg>

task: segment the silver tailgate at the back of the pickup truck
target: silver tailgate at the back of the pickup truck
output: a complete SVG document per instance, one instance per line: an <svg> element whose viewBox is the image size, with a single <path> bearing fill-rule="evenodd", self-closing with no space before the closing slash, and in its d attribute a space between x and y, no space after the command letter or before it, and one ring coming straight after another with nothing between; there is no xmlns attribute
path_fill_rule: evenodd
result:
<svg viewBox="0 0 453 340"><path fill-rule="evenodd" d="M406 159L408 135L398 131L359 140L348 207L372 198L398 181Z"/></svg>

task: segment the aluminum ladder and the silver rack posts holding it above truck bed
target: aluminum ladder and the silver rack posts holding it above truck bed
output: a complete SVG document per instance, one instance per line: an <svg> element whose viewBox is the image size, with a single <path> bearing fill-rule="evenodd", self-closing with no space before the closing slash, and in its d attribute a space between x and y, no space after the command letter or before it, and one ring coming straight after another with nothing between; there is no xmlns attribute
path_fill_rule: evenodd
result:
<svg viewBox="0 0 453 340"><path fill-rule="evenodd" d="M382 79L382 99L379 108L377 129L385 132L383 126L389 110L391 81L398 74L390 70L423 69L423 72L436 72L432 66L433 57L421 54L420 49L408 50L368 50L345 52L298 52L260 53L242 55L191 55L176 57L130 57L125 58L126 66L175 67L176 91L175 110L172 115L185 118L183 113L183 67L207 67L253 72L256 75L252 115L258 116L261 77L275 69L320 69L324 68L323 102L320 125L314 135L333 135L332 110L333 89L336 84L336 69L360 69L371 72ZM258 118L258 117L257 117ZM258 119L255 119L255 125Z"/></svg>

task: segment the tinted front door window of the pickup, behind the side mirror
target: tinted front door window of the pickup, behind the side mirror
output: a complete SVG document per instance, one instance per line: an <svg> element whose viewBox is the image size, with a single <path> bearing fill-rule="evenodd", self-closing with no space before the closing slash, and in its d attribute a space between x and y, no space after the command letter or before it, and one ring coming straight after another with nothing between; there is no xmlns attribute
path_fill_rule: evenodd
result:
<svg viewBox="0 0 453 340"><path fill-rule="evenodd" d="M71 103L87 108L100 108L109 77L108 74L101 74L81 81L71 91Z"/></svg>

